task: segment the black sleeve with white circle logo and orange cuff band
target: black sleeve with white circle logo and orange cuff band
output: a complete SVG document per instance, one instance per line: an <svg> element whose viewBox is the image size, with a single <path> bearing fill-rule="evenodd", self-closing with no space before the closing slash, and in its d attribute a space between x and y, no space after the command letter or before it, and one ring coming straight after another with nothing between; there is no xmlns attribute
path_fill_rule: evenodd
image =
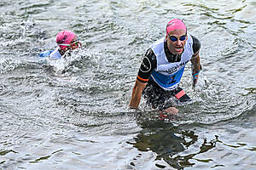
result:
<svg viewBox="0 0 256 170"><path fill-rule="evenodd" d="M137 73L137 80L140 82L148 82L151 72L156 68L156 57L151 48L148 48L142 65Z"/></svg>

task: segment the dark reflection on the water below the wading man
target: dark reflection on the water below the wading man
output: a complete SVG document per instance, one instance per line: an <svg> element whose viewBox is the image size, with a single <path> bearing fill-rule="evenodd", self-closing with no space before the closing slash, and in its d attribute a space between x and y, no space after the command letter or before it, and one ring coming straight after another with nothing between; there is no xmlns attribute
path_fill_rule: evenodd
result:
<svg viewBox="0 0 256 170"><path fill-rule="evenodd" d="M135 138L133 144L140 151L154 151L157 156L155 160L166 161L171 167L183 169L183 167L193 167L195 163L190 160L201 162L209 162L212 159L197 159L195 156L201 153L212 150L216 146L218 136L216 139L207 141L204 139L203 143L199 145L199 150L195 153L185 153L182 156L178 153L187 150L190 146L198 142L198 135L193 130L185 130L179 127L174 127L172 123L166 122L143 122L139 124L143 127L143 131ZM164 168L165 165L155 164L156 167Z"/></svg>

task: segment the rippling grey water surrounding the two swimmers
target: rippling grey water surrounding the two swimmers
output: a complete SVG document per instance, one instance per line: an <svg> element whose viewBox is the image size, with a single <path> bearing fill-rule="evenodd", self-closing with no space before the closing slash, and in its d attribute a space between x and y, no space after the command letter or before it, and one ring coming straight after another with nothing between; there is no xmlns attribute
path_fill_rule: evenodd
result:
<svg viewBox="0 0 256 170"><path fill-rule="evenodd" d="M193 99L128 109L148 46L181 18L201 40ZM68 29L84 44L40 60ZM0 2L0 169L255 169L256 1Z"/></svg>

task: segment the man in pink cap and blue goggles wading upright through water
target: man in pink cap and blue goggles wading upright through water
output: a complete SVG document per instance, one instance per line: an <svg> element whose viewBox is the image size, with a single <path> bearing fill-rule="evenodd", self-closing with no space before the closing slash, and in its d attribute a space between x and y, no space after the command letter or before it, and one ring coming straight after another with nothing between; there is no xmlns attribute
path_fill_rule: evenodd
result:
<svg viewBox="0 0 256 170"><path fill-rule="evenodd" d="M167 113L177 113L171 98L189 101L189 96L179 87L185 65L192 63L192 86L201 71L199 51L201 42L187 32L183 20L174 19L166 25L166 37L154 42L144 55L132 89L130 108L137 109L143 95L153 108ZM172 101L171 101L172 100Z"/></svg>

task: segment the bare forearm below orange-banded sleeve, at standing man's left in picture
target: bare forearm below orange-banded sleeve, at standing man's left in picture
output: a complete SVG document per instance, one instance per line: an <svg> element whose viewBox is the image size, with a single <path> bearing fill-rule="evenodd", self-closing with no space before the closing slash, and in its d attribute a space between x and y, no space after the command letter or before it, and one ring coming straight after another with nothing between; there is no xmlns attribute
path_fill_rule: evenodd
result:
<svg viewBox="0 0 256 170"><path fill-rule="evenodd" d="M138 108L138 105L140 104L140 101L142 98L143 89L146 87L147 84L148 82L140 82L136 80L135 85L132 89L132 94L131 94L131 101L130 101L131 109Z"/></svg>

